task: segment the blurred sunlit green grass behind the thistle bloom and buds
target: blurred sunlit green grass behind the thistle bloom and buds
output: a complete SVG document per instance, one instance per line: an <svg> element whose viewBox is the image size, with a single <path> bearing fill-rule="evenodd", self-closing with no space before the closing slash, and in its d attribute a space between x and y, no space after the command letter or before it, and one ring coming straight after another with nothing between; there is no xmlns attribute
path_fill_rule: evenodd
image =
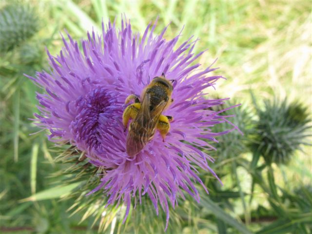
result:
<svg viewBox="0 0 312 234"><path fill-rule="evenodd" d="M1 8L7 3L1 1ZM22 74L33 75L35 71L48 69L44 47L52 55L58 54L62 47L59 31L64 32L64 28L74 39L81 39L92 26L100 31L102 18L105 23L116 18L119 25L121 15L126 14L133 30L143 33L147 24L159 16L156 33L171 22L165 34L166 39L171 39L184 25L180 41L194 35L194 39L200 39L195 52L209 49L200 57L201 64L209 66L218 58L216 66L220 69L215 74L222 74L227 80L220 81L216 91L210 90L211 97L235 98L254 111L252 91L260 107L264 98L275 95L290 101L299 99L311 113L311 1L68 0L32 1L31 4L36 7L42 25L25 43L39 45L40 62L23 63L23 59L19 59L20 47L1 54L0 60L2 231L10 233L18 228L19 233L96 233L97 227L104 225L98 221L92 227L94 216L79 223L82 212L70 216L67 210L75 204L75 197L67 200L58 197L75 186L59 187L58 178L51 177L65 167L53 161L57 150L45 132L29 136L39 131L29 120L36 112L35 92L39 88ZM191 199L179 201L176 211L172 211L168 233L222 233L222 230L242 233L245 229L257 232L266 225L267 233L295 230L309 233L304 224L311 219L300 214L302 208L298 201L309 200L311 195L304 198L295 191L311 184L311 147L296 152L289 165L273 164L273 171L251 169L251 153L227 158L214 156L214 168L225 186L214 183L208 174L202 175L211 195L203 195L204 202L200 204ZM263 163L260 158L257 165ZM254 189L252 178L259 181ZM90 202L86 209L96 205ZM121 208L107 215L106 221L112 224L106 233L111 230L123 233L119 220L123 212ZM282 219L275 222L277 218ZM149 224L142 225L142 219L150 221ZM146 205L130 215L126 233L162 233L162 219L165 219L163 215L157 218L155 211Z"/></svg>

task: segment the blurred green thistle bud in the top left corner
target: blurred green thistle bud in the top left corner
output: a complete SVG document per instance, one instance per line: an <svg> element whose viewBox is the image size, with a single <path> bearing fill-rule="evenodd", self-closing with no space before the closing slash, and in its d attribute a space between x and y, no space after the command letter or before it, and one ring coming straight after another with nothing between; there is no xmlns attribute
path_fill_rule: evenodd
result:
<svg viewBox="0 0 312 234"><path fill-rule="evenodd" d="M39 30L35 9L28 4L12 3L0 11L1 52L12 50Z"/></svg>

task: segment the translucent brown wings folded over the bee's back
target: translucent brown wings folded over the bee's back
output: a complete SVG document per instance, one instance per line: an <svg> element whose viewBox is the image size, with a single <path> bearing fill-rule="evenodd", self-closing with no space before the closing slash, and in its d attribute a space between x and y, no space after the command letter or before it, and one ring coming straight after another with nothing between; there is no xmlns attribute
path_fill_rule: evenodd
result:
<svg viewBox="0 0 312 234"><path fill-rule="evenodd" d="M159 116L164 110L167 101L160 102L153 111L150 111L150 94L145 93L137 117L131 123L131 130L127 136L127 153L134 156L140 152L155 133Z"/></svg>

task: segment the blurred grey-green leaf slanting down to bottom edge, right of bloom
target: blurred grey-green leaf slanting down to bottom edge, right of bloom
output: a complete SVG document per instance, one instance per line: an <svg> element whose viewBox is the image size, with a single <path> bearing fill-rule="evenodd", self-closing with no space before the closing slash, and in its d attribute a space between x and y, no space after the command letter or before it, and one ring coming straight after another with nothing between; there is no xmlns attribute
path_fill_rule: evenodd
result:
<svg viewBox="0 0 312 234"><path fill-rule="evenodd" d="M234 227L240 233L251 234L251 232L246 228L246 226L243 223L239 223L232 216L226 214L218 205L215 204L215 202L213 202L207 196L206 197L205 196L201 197L200 204L203 207L207 208L208 210L211 210L217 218L219 218L220 220L224 221L228 225Z"/></svg>

